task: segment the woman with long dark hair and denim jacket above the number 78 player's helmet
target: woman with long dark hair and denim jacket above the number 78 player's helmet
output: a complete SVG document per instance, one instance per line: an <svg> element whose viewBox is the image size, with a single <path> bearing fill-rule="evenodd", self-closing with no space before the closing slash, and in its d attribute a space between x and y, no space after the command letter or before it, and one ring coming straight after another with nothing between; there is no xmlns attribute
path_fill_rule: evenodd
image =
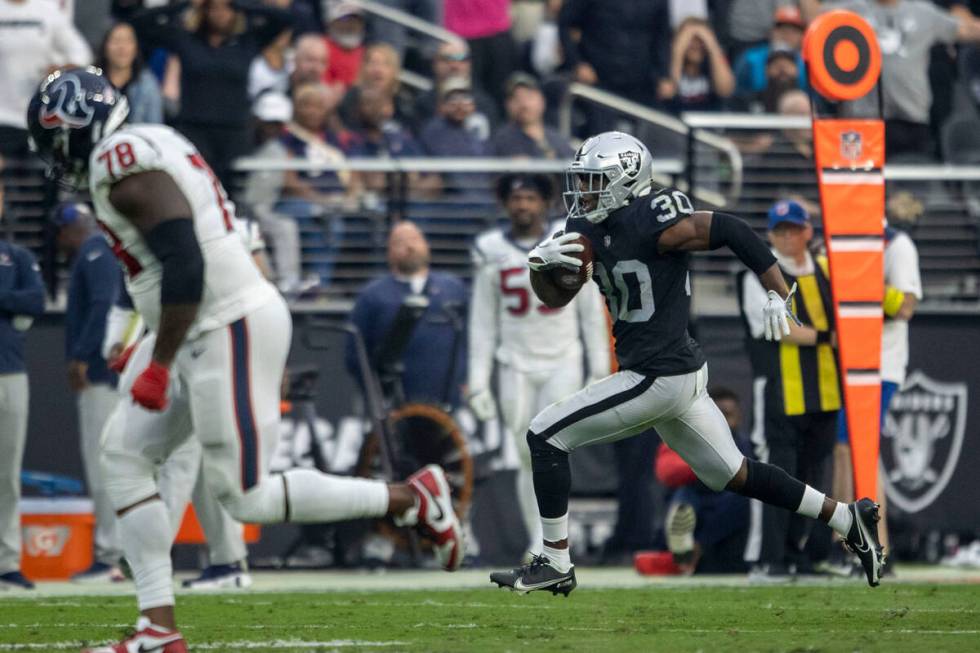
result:
<svg viewBox="0 0 980 653"><path fill-rule="evenodd" d="M136 31L129 23L109 28L99 47L95 65L129 102L131 123L163 122L163 98L156 77L143 66Z"/></svg>

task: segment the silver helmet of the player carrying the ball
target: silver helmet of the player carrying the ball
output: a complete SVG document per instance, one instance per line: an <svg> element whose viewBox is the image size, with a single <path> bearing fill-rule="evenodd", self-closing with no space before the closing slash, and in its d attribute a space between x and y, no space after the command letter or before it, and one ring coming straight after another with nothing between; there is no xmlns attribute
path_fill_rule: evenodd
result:
<svg viewBox="0 0 980 653"><path fill-rule="evenodd" d="M653 185L653 157L623 132L603 132L582 143L565 169L565 208L571 218L602 222Z"/></svg>

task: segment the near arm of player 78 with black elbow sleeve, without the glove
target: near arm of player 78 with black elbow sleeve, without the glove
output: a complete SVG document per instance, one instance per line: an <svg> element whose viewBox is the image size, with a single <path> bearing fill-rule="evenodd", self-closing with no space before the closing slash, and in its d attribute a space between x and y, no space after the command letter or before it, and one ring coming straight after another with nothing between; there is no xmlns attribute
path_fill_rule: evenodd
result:
<svg viewBox="0 0 980 653"><path fill-rule="evenodd" d="M109 201L139 229L160 260L160 331L153 360L170 367L197 317L204 291L204 258L194 235L187 198L165 172L149 171L116 182Z"/></svg>

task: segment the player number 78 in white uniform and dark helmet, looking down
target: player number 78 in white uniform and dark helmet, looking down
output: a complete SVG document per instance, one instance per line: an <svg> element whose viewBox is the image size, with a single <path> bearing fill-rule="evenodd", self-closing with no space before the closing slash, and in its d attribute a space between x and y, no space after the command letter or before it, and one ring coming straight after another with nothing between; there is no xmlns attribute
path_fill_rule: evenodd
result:
<svg viewBox="0 0 980 653"><path fill-rule="evenodd" d="M97 68L47 76L28 106L32 147L49 174L88 180L97 218L126 272L126 287L156 334L130 395L169 411L163 441L124 429L103 452L108 492L142 613L136 633L99 653L187 650L177 631L170 547L173 527L156 463L192 434L204 478L241 522L332 522L391 515L435 541L447 570L463 557L449 485L437 466L404 484L310 469L270 476L279 431L279 384L291 339L285 301L234 230L234 206L193 145L168 127L124 125L125 96ZM183 427L183 428L181 428Z"/></svg>

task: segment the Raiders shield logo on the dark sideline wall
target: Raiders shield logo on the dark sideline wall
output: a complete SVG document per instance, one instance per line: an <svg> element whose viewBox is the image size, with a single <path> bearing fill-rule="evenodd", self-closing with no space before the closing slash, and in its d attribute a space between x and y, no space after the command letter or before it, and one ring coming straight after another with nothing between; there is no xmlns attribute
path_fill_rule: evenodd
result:
<svg viewBox="0 0 980 653"><path fill-rule="evenodd" d="M965 383L913 372L892 399L881 440L888 498L914 513L935 501L956 471L966 432Z"/></svg>

